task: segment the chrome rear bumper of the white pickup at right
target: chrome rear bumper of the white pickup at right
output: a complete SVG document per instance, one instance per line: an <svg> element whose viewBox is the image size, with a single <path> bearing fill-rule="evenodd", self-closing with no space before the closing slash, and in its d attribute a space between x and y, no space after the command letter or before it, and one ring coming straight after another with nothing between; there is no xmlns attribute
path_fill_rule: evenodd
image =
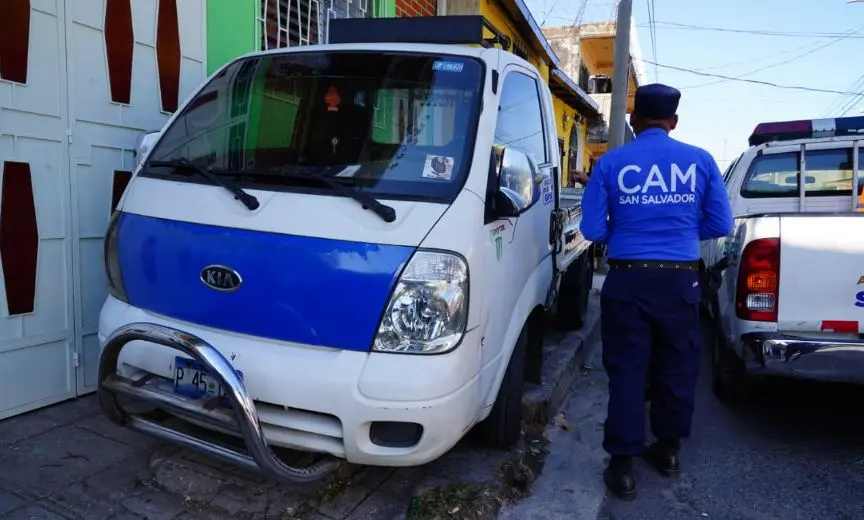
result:
<svg viewBox="0 0 864 520"><path fill-rule="evenodd" d="M864 339L814 340L757 332L741 340L752 375L864 384Z"/></svg>

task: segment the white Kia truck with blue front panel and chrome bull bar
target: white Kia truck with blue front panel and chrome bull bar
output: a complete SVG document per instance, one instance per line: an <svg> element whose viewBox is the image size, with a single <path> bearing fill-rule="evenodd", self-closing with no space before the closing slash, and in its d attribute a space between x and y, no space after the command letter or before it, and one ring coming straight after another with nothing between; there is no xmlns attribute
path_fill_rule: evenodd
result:
<svg viewBox="0 0 864 520"><path fill-rule="evenodd" d="M145 140L105 241L112 421L283 482L518 440L590 244L538 71L481 17L432 31L481 45L412 20L240 57Z"/></svg>

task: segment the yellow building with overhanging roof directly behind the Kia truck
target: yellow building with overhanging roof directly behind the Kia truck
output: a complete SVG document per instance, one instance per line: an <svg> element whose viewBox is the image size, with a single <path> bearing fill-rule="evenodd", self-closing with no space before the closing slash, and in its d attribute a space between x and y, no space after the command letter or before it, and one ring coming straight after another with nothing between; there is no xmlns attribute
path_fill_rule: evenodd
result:
<svg viewBox="0 0 864 520"><path fill-rule="evenodd" d="M446 0L446 15L481 15L513 44L514 54L531 62L552 91L558 144L562 155L561 185L572 186L572 173L589 167L588 126L602 124L599 103L562 69L561 60L546 40L522 0Z"/></svg>

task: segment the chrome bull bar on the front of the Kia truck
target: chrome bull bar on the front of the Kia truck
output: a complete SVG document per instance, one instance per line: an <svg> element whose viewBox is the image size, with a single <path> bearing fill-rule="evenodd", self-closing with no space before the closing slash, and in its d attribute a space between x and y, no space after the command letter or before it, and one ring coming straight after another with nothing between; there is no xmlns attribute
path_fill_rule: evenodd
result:
<svg viewBox="0 0 864 520"><path fill-rule="evenodd" d="M201 400L148 388L143 381L132 381L119 376L117 364L120 351L129 342L136 340L178 350L201 363L222 385L221 388L225 390L233 413L227 410L224 412L210 410ZM114 331L105 341L105 347L99 358L97 394L103 413L120 426L263 473L280 482L291 484L314 482L332 473L340 464L338 459L330 455L308 467L285 464L267 444L252 398L246 391L243 380L228 360L206 341L177 329L153 323L132 323ZM224 430L237 432L245 441L248 453L131 414L120 405L118 394L149 402L181 418L202 421Z"/></svg>

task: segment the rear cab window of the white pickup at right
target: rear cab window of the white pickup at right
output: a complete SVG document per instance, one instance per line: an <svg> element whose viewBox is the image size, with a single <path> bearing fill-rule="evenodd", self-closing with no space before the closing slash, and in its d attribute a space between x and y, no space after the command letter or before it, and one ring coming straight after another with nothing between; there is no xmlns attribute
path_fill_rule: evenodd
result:
<svg viewBox="0 0 864 520"><path fill-rule="evenodd" d="M852 149L808 150L805 152L806 197L852 194ZM859 152L859 164L864 152ZM741 186L746 198L797 197L800 180L799 152L762 155L753 160ZM862 183L859 181L858 191Z"/></svg>

